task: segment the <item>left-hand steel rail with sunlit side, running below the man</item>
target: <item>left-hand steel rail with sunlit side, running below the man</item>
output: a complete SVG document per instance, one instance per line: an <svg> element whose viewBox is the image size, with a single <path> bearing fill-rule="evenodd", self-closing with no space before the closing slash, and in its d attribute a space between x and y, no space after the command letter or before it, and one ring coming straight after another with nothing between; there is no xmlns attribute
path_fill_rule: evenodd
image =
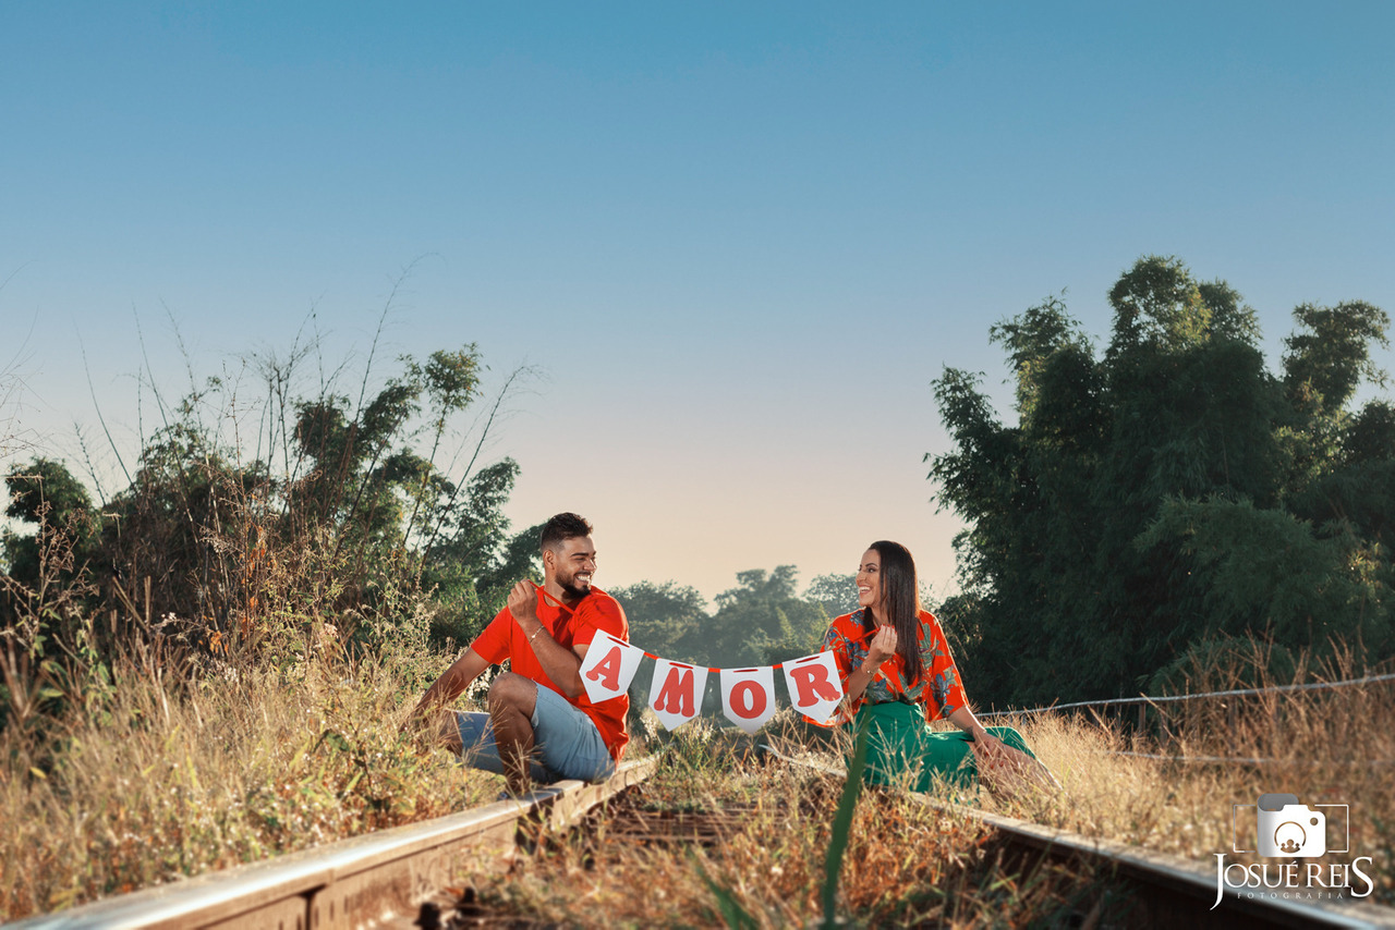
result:
<svg viewBox="0 0 1395 930"><path fill-rule="evenodd" d="M14 930L268 927L331 930L416 926L417 909L458 874L462 853L512 855L519 825L564 830L642 782L657 760L622 763L608 781L564 781L418 824L206 873L4 924Z"/></svg>

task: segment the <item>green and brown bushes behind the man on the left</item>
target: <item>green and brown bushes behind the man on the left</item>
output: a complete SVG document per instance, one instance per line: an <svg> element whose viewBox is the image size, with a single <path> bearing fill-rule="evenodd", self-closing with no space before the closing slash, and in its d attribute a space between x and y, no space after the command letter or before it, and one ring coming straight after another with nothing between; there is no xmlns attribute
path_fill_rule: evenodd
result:
<svg viewBox="0 0 1395 930"><path fill-rule="evenodd" d="M220 429L246 403L222 381L179 404L156 395L160 425L100 508L66 463L11 470L7 516L29 531L3 538L0 634L24 626L54 654L80 618L110 615L98 625L107 651L159 634L208 657L255 646L278 661L326 647L326 634L328 648L472 637L534 567L536 531L511 537L502 516L518 464L474 468L488 425L473 455L456 445L455 422L480 396L474 346L399 364L377 393L364 372L352 402L332 385L296 397L289 368L266 363L258 455ZM227 406L208 417L220 392ZM467 460L465 474L446 457Z"/></svg>

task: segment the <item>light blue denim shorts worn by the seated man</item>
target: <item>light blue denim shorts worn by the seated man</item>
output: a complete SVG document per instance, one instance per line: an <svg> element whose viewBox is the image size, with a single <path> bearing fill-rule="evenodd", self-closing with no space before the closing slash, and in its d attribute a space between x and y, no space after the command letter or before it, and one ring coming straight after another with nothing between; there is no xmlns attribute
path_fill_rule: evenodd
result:
<svg viewBox="0 0 1395 930"><path fill-rule="evenodd" d="M504 774L499 749L494 743L490 715L480 711L455 711L460 728L460 761L495 775ZM529 777L540 784L578 778L605 781L615 774L605 740L591 718L576 710L551 687L537 686L533 706L533 759Z"/></svg>

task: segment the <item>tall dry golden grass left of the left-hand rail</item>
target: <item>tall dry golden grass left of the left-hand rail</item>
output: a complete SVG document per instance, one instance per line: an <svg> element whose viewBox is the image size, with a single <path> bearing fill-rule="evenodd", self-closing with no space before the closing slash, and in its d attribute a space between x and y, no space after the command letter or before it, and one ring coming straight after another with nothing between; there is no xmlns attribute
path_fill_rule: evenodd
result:
<svg viewBox="0 0 1395 930"><path fill-rule="evenodd" d="M29 678L35 697L61 685ZM396 662L113 678L0 733L0 919L444 816L501 784L398 736Z"/></svg>

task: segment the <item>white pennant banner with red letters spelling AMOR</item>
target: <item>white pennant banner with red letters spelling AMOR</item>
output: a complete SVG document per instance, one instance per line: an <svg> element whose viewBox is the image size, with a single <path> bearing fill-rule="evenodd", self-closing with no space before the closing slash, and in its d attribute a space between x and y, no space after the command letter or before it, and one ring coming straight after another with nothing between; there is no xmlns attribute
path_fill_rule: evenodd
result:
<svg viewBox="0 0 1395 930"><path fill-rule="evenodd" d="M596 633L582 661L586 694L591 701L619 697L646 655L654 660L649 706L667 729L678 729L702 712L710 672L717 673L723 714L748 733L755 733L776 712L776 669L784 672L794 708L816 724L830 722L843 700L843 682L831 653L756 668L706 668L661 658L604 632Z"/></svg>

